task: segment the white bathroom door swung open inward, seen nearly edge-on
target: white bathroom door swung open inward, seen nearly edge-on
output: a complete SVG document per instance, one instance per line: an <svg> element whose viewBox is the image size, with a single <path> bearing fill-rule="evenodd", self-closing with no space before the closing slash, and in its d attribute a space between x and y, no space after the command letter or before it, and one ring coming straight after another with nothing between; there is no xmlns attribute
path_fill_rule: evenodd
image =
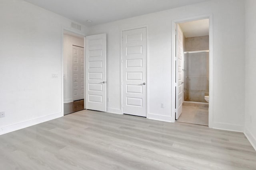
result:
<svg viewBox="0 0 256 170"><path fill-rule="evenodd" d="M176 120L182 113L183 103L183 32L176 26Z"/></svg>

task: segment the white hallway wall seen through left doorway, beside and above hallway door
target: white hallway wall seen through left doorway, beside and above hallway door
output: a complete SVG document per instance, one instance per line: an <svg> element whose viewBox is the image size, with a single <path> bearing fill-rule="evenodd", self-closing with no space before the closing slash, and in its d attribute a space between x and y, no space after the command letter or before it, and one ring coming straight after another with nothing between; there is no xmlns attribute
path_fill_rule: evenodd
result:
<svg viewBox="0 0 256 170"><path fill-rule="evenodd" d="M64 103L73 101L73 45L84 47L84 38L71 35L63 37Z"/></svg>

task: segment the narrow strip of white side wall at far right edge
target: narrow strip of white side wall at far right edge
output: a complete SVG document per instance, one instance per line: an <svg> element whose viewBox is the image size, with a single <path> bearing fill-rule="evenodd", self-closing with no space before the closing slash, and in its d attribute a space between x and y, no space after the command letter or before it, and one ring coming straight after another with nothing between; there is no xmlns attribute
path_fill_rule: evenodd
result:
<svg viewBox="0 0 256 170"><path fill-rule="evenodd" d="M256 1L245 2L245 134L256 150Z"/></svg>

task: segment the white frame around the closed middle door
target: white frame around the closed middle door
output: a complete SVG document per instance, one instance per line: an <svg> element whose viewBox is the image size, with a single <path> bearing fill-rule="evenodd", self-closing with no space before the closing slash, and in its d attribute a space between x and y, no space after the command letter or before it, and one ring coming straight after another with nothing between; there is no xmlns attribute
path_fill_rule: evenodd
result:
<svg viewBox="0 0 256 170"><path fill-rule="evenodd" d="M148 68L148 63L149 63L149 55L148 55L148 51L149 51L149 44L148 44L148 25L142 25L142 26L134 26L134 27L130 27L130 28L124 28L120 30L120 111L121 114L123 113L123 85L122 85L122 81L123 81L123 41L122 41L122 36L123 36L123 31L128 31L128 30L135 30L135 29L139 29L139 28L146 28L146 118L148 118L148 100L149 100L149 96L148 96L148 90L149 90L149 81L148 81L148 77L149 77L149 68Z"/></svg>

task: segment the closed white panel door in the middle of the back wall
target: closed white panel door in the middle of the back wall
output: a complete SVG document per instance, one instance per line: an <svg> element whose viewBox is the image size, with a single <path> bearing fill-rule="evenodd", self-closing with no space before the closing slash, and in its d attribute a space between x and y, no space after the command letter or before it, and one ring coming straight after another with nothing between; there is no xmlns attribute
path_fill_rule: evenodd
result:
<svg viewBox="0 0 256 170"><path fill-rule="evenodd" d="M146 117L146 28L122 37L123 113Z"/></svg>

